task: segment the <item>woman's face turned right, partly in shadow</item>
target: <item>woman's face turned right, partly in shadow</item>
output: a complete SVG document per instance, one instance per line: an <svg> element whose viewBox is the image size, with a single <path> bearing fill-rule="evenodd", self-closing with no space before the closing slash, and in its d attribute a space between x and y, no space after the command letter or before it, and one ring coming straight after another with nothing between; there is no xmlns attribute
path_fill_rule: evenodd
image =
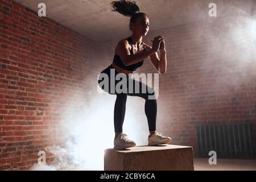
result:
<svg viewBox="0 0 256 182"><path fill-rule="evenodd" d="M149 30L149 20L146 15L137 19L135 23L131 23L133 27L133 32L136 35L146 36Z"/></svg>

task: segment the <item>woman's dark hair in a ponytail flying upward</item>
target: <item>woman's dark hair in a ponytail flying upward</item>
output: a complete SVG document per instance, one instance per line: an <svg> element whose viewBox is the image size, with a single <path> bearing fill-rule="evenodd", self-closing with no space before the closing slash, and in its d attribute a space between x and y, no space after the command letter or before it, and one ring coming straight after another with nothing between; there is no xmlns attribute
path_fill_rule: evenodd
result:
<svg viewBox="0 0 256 182"><path fill-rule="evenodd" d="M147 15L146 13L139 12L139 7L136 5L135 1L112 1L111 5L113 7L112 11L117 11L122 15L131 17L130 23L135 23L138 18L141 18L143 15Z"/></svg>

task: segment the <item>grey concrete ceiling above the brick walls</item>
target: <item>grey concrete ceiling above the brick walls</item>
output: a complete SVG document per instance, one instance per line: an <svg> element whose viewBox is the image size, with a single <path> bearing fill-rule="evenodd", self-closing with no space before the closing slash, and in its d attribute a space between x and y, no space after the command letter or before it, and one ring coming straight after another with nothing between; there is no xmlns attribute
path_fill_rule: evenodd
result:
<svg viewBox="0 0 256 182"><path fill-rule="evenodd" d="M96 42L131 35L129 17L112 12L112 0L14 0L38 11L46 3L46 15ZM255 15L256 0L137 0L141 12L147 13L150 31L209 18L209 3L217 4L217 14L239 9ZM233 9L230 9L233 7ZM233 12L236 14L236 12Z"/></svg>

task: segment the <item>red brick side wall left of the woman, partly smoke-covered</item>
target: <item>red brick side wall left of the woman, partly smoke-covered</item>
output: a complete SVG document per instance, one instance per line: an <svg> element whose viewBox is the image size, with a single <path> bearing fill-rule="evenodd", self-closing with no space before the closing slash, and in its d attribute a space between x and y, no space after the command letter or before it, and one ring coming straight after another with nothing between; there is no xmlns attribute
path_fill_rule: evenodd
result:
<svg viewBox="0 0 256 182"><path fill-rule="evenodd" d="M0 1L0 170L31 167L61 137L65 101L96 80L95 47L14 1Z"/></svg>

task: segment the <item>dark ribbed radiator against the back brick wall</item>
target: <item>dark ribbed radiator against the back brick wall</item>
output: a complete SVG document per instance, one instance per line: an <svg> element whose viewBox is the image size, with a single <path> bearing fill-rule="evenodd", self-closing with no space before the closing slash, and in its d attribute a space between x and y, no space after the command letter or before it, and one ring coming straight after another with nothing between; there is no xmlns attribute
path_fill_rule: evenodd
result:
<svg viewBox="0 0 256 182"><path fill-rule="evenodd" d="M254 159L251 129L251 123L197 125L196 157L209 158L209 151L216 151L217 158Z"/></svg>

